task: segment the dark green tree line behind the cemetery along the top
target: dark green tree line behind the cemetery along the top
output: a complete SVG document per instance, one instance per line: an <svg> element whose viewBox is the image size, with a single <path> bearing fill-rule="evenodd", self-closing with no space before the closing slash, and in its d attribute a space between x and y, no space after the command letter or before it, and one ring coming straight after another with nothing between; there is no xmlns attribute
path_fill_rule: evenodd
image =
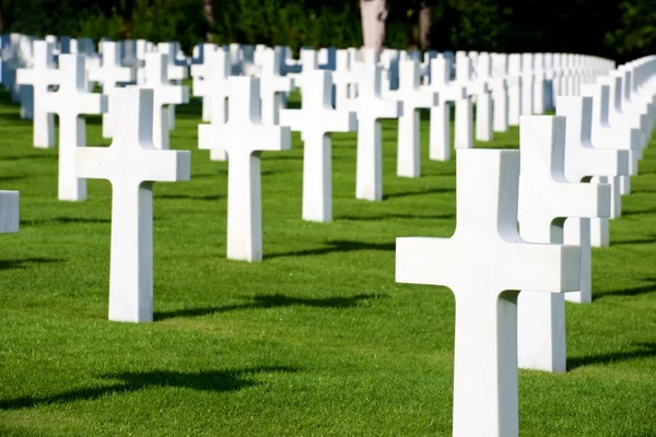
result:
<svg viewBox="0 0 656 437"><path fill-rule="evenodd" d="M385 47L656 54L656 0L0 0L0 33L360 47L373 2Z"/></svg>

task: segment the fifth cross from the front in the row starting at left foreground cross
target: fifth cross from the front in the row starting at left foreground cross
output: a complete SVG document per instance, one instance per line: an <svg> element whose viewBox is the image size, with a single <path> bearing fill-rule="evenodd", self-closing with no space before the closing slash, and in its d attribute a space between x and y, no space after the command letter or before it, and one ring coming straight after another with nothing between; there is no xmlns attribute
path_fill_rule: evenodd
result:
<svg viewBox="0 0 656 437"><path fill-rule="evenodd" d="M420 155L420 108L437 105L437 93L421 86L419 61L399 62L399 88L389 92L386 98L402 103L403 110L398 126L397 175L419 177L421 175Z"/></svg>

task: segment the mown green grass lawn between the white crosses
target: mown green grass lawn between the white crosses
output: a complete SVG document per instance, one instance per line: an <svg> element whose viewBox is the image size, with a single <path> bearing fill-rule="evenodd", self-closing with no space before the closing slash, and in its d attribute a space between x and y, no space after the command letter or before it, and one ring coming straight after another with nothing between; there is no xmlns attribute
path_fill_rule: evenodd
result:
<svg viewBox="0 0 656 437"><path fill-rule="evenodd" d="M155 321L131 324L107 321L109 182L58 201L57 150L1 98L21 231L0 235L0 435L450 435L453 294L395 283L396 237L456 225L455 161L427 160L427 121L419 179L395 176L384 122L383 202L354 199L355 134L333 134L328 224L301 220L298 135L265 153L265 258L246 263L225 259L227 165L197 149L198 101L178 106L192 180L155 184ZM89 145L108 144L89 120ZM517 145L517 128L477 143ZM656 435L655 149L594 249L594 303L566 305L569 373L519 373L523 435Z"/></svg>

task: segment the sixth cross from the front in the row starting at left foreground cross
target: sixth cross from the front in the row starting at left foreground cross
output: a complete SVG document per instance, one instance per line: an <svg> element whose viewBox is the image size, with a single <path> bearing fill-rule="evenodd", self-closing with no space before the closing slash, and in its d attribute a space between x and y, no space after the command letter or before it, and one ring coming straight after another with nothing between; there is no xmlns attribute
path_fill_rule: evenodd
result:
<svg viewBox="0 0 656 437"><path fill-rule="evenodd" d="M467 87L450 80L450 60L438 56L431 60L432 91L437 92L440 101L431 107L431 125L429 140L429 157L434 161L450 158L450 105L455 103L456 114L467 114L470 105ZM458 109L458 105L460 109ZM466 117L457 117L460 122L468 121ZM456 130L458 126L456 126ZM467 129L467 127L460 129Z"/></svg>

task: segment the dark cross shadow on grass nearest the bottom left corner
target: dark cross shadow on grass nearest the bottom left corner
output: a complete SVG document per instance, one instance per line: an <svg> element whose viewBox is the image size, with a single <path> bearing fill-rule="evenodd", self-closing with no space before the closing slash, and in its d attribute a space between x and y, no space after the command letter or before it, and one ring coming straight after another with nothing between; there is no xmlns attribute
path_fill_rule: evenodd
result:
<svg viewBox="0 0 656 437"><path fill-rule="evenodd" d="M82 388L40 398L15 398L0 400L0 410L17 410L47 405L50 403L67 403L92 401L105 394L129 393L151 388L184 388L199 391L237 391L247 387L260 385L251 377L262 373L295 373L298 369L285 366L263 366L233 370L208 370L196 373L153 370L125 371L104 375L106 379L118 379L122 382L106 387Z"/></svg>

